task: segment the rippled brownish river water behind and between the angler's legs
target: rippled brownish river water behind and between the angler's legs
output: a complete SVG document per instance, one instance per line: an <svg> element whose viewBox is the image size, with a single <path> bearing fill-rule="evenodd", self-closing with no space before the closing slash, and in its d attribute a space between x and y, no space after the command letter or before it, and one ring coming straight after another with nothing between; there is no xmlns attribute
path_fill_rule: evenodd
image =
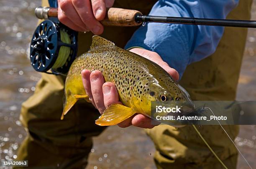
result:
<svg viewBox="0 0 256 169"><path fill-rule="evenodd" d="M0 0L0 159L17 158L26 137L19 121L20 104L33 94L40 74L27 59L36 27L33 9L39 0ZM252 19L256 20L256 1ZM238 85L238 100L256 100L256 29L250 29ZM256 168L256 126L241 126L236 144ZM110 148L111 147L111 148ZM142 129L108 127L94 138L87 168L155 168L154 144ZM239 158L238 168L248 168Z"/></svg>

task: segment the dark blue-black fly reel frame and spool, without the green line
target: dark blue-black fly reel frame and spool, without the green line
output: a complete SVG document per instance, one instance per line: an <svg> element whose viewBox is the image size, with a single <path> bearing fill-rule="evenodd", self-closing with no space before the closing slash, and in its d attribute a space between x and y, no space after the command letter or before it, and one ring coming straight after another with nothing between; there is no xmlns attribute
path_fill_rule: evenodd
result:
<svg viewBox="0 0 256 169"><path fill-rule="evenodd" d="M60 31L69 35L71 43L61 41ZM53 69L59 56L61 46L70 48L70 54L62 67ZM77 56L77 32L61 24L57 18L51 17L44 20L36 28L30 47L30 60L32 67L38 72L61 75L66 74ZM47 72L51 69L51 72Z"/></svg>

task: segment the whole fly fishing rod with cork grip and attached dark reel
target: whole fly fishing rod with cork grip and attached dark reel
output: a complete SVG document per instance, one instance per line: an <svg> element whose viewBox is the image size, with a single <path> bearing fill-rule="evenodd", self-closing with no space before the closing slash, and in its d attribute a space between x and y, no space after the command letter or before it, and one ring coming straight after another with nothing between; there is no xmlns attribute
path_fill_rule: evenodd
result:
<svg viewBox="0 0 256 169"><path fill-rule="evenodd" d="M61 24L58 10L53 7L37 7L36 17L44 19L38 25L31 40L30 60L32 67L38 72L59 75L68 72L77 55L77 32ZM137 10L108 8L104 26L139 26L146 22L209 25L224 27L256 28L256 21L220 20L189 17L162 17L143 15Z"/></svg>

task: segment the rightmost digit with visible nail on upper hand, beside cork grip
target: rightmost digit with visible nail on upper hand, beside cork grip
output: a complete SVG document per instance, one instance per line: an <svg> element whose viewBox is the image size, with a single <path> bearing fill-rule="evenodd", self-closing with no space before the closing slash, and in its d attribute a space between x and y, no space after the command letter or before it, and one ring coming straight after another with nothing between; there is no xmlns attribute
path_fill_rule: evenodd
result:
<svg viewBox="0 0 256 169"><path fill-rule="evenodd" d="M97 20L103 20L106 15L105 0L92 0L92 11Z"/></svg>

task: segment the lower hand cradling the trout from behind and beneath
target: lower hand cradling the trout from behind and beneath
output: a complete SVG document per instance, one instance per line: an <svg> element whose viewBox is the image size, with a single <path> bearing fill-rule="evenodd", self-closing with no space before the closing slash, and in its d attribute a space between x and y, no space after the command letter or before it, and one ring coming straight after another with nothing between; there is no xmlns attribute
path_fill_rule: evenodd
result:
<svg viewBox="0 0 256 169"><path fill-rule="evenodd" d="M178 72L169 67L169 65L164 62L156 52L151 52L149 50L140 48L134 48L131 50L131 52L156 62L172 77L174 77L175 80L179 79ZM115 85L111 82L105 82L100 71L95 70L90 72L90 70L83 70L81 74L84 89L88 94L90 101L99 110L100 114L102 114L106 107L109 107L111 104L122 104L119 101L119 95ZM160 123L155 122L155 124L158 125ZM129 127L131 125L148 129L156 126L152 124L152 119L144 116L143 114L134 114L132 117L118 124L119 127Z"/></svg>

